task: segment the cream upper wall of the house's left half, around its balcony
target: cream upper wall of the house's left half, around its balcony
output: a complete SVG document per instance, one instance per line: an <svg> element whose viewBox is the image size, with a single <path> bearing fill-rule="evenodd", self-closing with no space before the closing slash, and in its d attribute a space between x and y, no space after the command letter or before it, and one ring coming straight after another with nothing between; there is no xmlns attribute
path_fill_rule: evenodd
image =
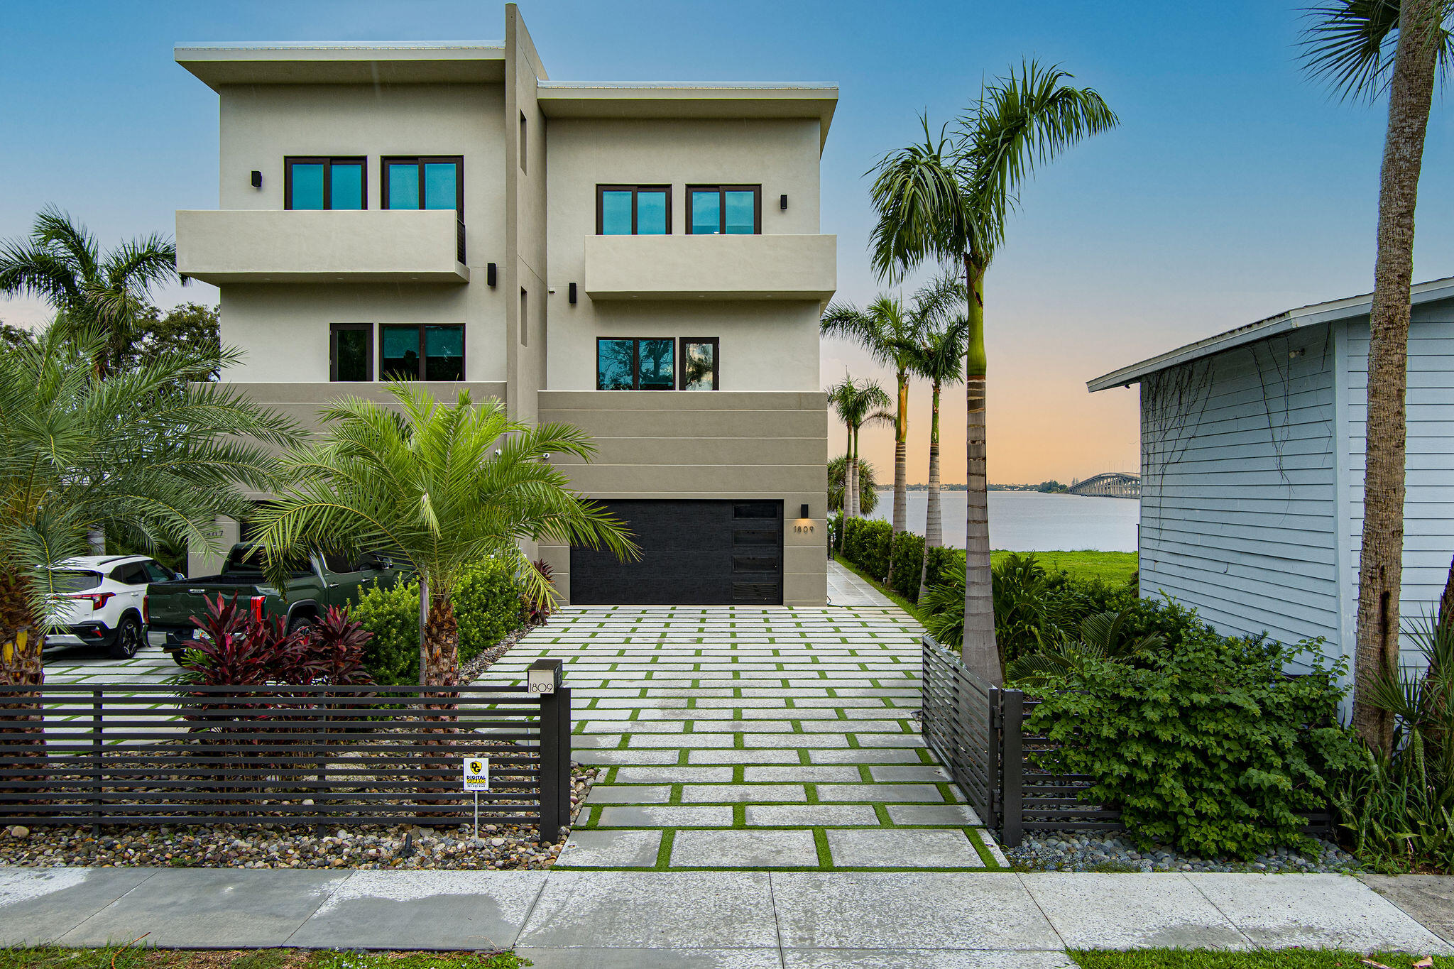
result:
<svg viewBox="0 0 1454 969"><path fill-rule="evenodd" d="M222 340L246 353L225 379L326 382L330 323L462 323L465 379L505 379L509 292L486 280L486 263L506 261L503 84L227 86L218 100L222 209L282 209L288 155L366 155L369 211L355 218L387 219L379 158L464 155L470 266L468 283L224 283Z"/></svg>

